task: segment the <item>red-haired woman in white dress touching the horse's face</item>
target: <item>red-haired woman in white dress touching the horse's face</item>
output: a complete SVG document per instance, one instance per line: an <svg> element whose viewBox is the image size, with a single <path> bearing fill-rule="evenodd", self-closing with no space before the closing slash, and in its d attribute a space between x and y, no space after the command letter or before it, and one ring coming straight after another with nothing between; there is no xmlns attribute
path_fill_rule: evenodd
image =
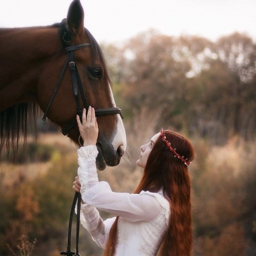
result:
<svg viewBox="0 0 256 256"><path fill-rule="evenodd" d="M104 256L189 256L192 247L191 198L188 165L194 157L191 143L183 136L163 131L141 146L137 165L144 168L134 194L114 193L99 182L95 166L98 125L95 110L83 110L77 124L84 147L78 153L81 223ZM117 217L102 221L96 208Z"/></svg>

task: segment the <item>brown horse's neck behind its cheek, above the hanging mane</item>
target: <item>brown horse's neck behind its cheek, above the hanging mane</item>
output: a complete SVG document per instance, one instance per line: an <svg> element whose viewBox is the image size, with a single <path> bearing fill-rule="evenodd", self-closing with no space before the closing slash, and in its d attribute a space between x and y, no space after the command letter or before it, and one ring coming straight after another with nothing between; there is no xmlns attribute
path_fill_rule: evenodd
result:
<svg viewBox="0 0 256 256"><path fill-rule="evenodd" d="M35 101L40 67L60 47L58 28L0 29L0 111Z"/></svg>

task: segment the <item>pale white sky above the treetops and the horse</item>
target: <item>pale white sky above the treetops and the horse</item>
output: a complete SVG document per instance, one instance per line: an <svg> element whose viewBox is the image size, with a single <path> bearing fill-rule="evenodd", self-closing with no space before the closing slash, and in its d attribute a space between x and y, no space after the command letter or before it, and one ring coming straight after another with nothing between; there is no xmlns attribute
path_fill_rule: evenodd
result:
<svg viewBox="0 0 256 256"><path fill-rule="evenodd" d="M0 28L47 26L67 17L71 0L0 0ZM235 31L256 42L256 0L81 0L84 26L99 43L125 42L156 29L212 41Z"/></svg>

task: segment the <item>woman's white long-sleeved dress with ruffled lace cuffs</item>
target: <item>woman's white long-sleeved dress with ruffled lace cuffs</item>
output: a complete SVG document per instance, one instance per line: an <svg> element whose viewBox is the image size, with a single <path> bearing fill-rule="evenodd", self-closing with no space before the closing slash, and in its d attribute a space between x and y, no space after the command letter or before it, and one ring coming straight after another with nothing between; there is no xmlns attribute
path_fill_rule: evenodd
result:
<svg viewBox="0 0 256 256"><path fill-rule="evenodd" d="M81 195L81 223L101 248L108 242L109 230L116 217L103 221L99 211L120 216L115 256L154 256L163 241L170 218L170 204L163 191L140 194L115 193L107 182L99 182L95 157L97 147L77 150Z"/></svg>

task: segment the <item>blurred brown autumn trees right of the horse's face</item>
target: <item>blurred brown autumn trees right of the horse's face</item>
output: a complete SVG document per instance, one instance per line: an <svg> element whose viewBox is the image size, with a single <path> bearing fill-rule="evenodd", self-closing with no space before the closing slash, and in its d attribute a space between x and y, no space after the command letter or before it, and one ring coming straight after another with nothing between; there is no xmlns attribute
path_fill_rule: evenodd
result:
<svg viewBox="0 0 256 256"><path fill-rule="evenodd" d="M112 72L118 70L112 77L128 116L157 109L157 129L172 123L215 144L255 135L255 47L239 33L213 43L147 31L105 52Z"/></svg>

